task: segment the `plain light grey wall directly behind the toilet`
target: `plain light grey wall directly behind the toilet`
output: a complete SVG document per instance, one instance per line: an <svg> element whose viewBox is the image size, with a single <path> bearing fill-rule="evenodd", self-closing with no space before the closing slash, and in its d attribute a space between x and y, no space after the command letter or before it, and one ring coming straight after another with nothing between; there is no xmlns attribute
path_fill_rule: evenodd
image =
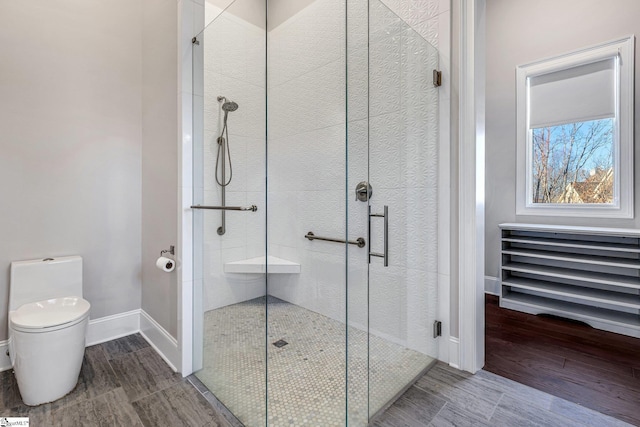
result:
<svg viewBox="0 0 640 427"><path fill-rule="evenodd" d="M91 318L140 307L141 3L0 3L0 339L9 264L84 259Z"/></svg>

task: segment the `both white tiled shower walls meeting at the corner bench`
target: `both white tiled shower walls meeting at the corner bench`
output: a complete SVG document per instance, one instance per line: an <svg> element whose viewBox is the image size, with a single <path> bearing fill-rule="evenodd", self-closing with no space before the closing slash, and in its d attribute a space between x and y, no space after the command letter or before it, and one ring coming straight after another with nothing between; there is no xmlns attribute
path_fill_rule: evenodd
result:
<svg viewBox="0 0 640 427"><path fill-rule="evenodd" d="M367 237L366 204L354 201L353 189L367 179L369 136L373 210L389 205L391 218L390 267L374 259L371 268L370 326L381 336L436 355L434 343L427 338L437 313L438 240L442 240L438 238L438 110L426 96L416 96L428 93L429 88L420 85L430 84L431 69L420 69L422 62L415 58L433 54L423 38L438 45L448 2L411 2L409 7L406 2L386 0L402 20L384 4L371 3L369 124L366 2L349 2L346 45L340 17L345 13L344 0L317 0L269 32L269 254L299 262L302 273L270 275L268 292L346 320L344 246L309 242L303 236L313 231L344 237L347 212L349 237ZM219 202L213 175L221 117L216 97L224 95L240 105L229 116L234 178L227 204L256 204L260 211L258 215L229 213L223 237L215 231L219 214L203 216L206 310L264 293L261 276L222 273L224 262L264 253L260 227L265 155L261 139L264 63L260 61L264 55L257 49L249 51L250 46L264 47L264 30L225 15L210 25L204 44L208 82L204 89L204 199L207 204ZM224 43L207 43L215 39ZM420 196L415 197L416 193ZM382 221L376 219L372 225L372 249L381 251ZM348 248L348 321L361 327L367 321L366 250Z"/></svg>

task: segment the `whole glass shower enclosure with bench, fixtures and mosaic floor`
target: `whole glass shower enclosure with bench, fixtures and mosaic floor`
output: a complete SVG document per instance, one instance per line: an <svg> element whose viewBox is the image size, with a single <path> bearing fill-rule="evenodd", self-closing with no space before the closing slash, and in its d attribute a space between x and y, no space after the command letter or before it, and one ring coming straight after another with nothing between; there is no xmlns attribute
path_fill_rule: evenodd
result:
<svg viewBox="0 0 640 427"><path fill-rule="evenodd" d="M246 426L365 426L438 354L438 52L379 0L205 17L196 376Z"/></svg>

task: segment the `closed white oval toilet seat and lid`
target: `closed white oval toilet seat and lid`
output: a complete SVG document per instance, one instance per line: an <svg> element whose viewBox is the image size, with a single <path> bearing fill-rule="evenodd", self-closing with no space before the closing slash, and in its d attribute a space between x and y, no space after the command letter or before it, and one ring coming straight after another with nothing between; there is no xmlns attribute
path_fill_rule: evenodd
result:
<svg viewBox="0 0 640 427"><path fill-rule="evenodd" d="M69 296L32 302L9 313L10 328L27 333L50 332L76 325L89 316L91 304Z"/></svg>

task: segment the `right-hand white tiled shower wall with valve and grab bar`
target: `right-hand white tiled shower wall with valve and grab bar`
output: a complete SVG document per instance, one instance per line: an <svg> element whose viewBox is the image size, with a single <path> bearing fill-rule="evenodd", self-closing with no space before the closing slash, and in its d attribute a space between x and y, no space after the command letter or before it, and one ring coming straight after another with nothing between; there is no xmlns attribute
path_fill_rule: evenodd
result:
<svg viewBox="0 0 640 427"><path fill-rule="evenodd" d="M437 44L439 3L429 4L426 11L401 12ZM367 237L367 207L354 201L353 189L367 180L369 133L373 211L390 209L390 266L373 259L370 327L437 355L430 328L438 313L438 105L432 70L421 68L437 62L437 52L385 5L371 2L367 106L366 7L349 2L346 46L344 20L336 17L345 10L339 0L318 0L270 33L269 250L299 262L302 273L271 275L268 289L344 321L348 286L348 321L365 327L367 249L349 246L346 284L344 246L303 236L344 237L346 210L349 238ZM373 221L372 249L382 251L382 220Z"/></svg>

